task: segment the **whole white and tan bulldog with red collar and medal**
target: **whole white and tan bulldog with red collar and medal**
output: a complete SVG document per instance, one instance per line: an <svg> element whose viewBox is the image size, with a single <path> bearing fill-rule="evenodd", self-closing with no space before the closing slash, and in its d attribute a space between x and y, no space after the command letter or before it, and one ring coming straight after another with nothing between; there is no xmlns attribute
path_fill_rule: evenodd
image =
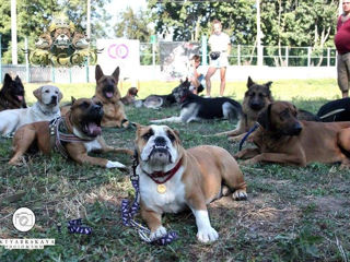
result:
<svg viewBox="0 0 350 262"><path fill-rule="evenodd" d="M151 229L150 238L166 234L163 213L189 207L198 227L197 238L211 242L219 238L210 225L207 204L232 190L232 198L247 198L246 183L236 160L224 148L182 146L178 132L166 126L138 126L135 141L140 177L141 215ZM223 189L225 187L225 190Z"/></svg>

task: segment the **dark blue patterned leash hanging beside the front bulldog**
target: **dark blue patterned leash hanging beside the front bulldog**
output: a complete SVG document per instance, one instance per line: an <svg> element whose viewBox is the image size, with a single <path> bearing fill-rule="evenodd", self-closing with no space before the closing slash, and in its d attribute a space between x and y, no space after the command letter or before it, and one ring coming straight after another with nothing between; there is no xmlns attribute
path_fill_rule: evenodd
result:
<svg viewBox="0 0 350 262"><path fill-rule="evenodd" d="M139 187L139 176L136 174L136 168L138 166L137 157L135 157L133 164L132 164L132 171L133 175L130 176L130 181L132 187L135 188L135 200L133 203L130 205L129 200L124 199L121 201L121 221L125 226L132 226L136 227L140 238L149 243L156 243L160 246L166 246L171 243L172 241L176 240L178 238L177 234L175 231L170 231L165 236L158 238L158 239L150 239L149 235L151 234L151 230L147 227L140 225L136 221L133 221L133 216L140 209L140 187Z"/></svg>

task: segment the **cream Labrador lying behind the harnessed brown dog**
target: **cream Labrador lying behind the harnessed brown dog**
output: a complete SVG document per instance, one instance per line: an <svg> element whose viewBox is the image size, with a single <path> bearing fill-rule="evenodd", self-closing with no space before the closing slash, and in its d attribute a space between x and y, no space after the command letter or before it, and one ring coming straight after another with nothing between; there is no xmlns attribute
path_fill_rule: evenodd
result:
<svg viewBox="0 0 350 262"><path fill-rule="evenodd" d="M3 136L11 135L26 123L49 121L60 116L59 102L62 93L57 86L43 85L33 94L37 102L32 107L0 111L0 133Z"/></svg>

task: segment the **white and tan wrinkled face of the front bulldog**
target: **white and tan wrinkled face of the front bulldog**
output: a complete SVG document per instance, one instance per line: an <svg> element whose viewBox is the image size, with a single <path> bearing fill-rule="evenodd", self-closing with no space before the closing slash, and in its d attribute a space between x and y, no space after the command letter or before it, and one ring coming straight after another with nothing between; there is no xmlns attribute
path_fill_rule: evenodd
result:
<svg viewBox="0 0 350 262"><path fill-rule="evenodd" d="M166 126L139 126L135 144L139 160L155 169L175 164L180 155L178 132Z"/></svg>

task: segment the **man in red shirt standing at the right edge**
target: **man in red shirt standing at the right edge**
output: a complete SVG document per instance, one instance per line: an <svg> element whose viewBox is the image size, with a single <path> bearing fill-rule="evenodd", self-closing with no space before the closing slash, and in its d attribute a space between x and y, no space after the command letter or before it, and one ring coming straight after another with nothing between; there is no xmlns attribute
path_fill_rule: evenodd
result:
<svg viewBox="0 0 350 262"><path fill-rule="evenodd" d="M338 17L335 44L338 51L338 85L342 97L349 96L350 76L350 0L342 0L342 14Z"/></svg>

